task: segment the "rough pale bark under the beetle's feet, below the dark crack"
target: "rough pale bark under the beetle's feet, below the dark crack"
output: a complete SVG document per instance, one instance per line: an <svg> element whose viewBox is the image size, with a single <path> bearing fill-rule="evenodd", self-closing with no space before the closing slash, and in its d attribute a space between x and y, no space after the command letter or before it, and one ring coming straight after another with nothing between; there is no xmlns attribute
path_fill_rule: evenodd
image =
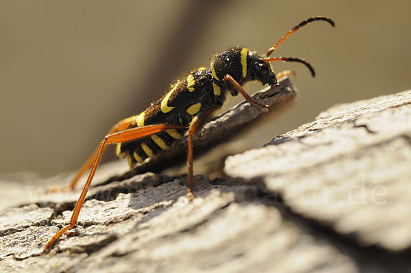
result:
<svg viewBox="0 0 411 273"><path fill-rule="evenodd" d="M5 236L4 241L14 244L0 261L0 269L1 272L15 272L16 268L20 272L355 270L355 263L335 246L285 220L277 208L250 198L257 196L256 190L241 185L212 185L205 177L197 177L196 198L192 203L188 203L186 187L177 179L135 194L119 194L108 202L88 200L79 227L63 235L47 255L40 255L45 240L57 231L56 226L67 224L71 211L64 211L62 218L51 221L51 226L31 226L21 233ZM22 236L31 236L33 241L18 242ZM293 262L299 259L304 263Z"/></svg>

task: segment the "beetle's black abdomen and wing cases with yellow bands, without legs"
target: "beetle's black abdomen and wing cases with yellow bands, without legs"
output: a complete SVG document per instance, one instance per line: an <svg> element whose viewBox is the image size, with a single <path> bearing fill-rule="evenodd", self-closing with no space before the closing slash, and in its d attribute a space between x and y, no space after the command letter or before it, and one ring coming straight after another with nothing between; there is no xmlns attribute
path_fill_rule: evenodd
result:
<svg viewBox="0 0 411 273"><path fill-rule="evenodd" d="M135 116L129 128L146 125L173 124L188 127L192 118L203 109L222 105L223 92L213 84L210 68L199 68L177 81L169 92L155 101L144 112ZM116 154L128 158L130 168L169 150L173 143L184 137L186 129L173 129L117 144Z"/></svg>

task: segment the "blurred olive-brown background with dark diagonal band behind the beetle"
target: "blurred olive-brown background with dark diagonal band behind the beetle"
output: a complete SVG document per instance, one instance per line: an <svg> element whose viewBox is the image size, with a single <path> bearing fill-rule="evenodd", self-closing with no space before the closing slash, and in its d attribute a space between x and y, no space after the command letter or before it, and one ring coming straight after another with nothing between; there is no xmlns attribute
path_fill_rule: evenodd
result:
<svg viewBox="0 0 411 273"><path fill-rule="evenodd" d="M408 90L410 10L410 1L379 0L0 1L0 172L79 168L116 121L144 110L177 77L228 46L264 53L314 15L336 28L312 23L275 56L304 57L317 77L301 64L273 63L297 72L301 96L240 135L244 150L336 103Z"/></svg>

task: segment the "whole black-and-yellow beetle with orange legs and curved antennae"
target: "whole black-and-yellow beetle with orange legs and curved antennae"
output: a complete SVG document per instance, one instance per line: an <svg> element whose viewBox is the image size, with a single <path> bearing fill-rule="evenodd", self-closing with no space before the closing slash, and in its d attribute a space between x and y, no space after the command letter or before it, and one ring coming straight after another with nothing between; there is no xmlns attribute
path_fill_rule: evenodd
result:
<svg viewBox="0 0 411 273"><path fill-rule="evenodd" d="M325 21L333 27L335 26L331 18L314 16L293 27L273 47L269 48L265 55L260 55L245 47L234 47L216 54L212 58L210 67L192 70L186 77L174 83L171 90L158 101L152 103L145 111L136 116L125 118L114 125L105 135L95 153L90 156L73 179L69 187L71 190L82 174L91 168L86 185L84 185L82 194L73 209L70 223L49 239L43 252L47 251L63 233L76 226L88 187L90 187L101 155L108 144L117 144L116 154L121 158L127 157L130 168L133 168L136 164L142 164L145 159L154 158L162 151L173 148L174 142L187 137L187 198L192 200L194 181L192 135L205 124L217 109L223 106L228 92L232 96L237 96L240 93L253 105L269 109L268 105L252 99L242 86L249 81L260 81L263 85L275 86L279 77L292 74L292 71L286 70L276 75L270 62L299 62L307 66L314 77L314 68L304 59L269 57L286 38L304 25L314 21Z"/></svg>

